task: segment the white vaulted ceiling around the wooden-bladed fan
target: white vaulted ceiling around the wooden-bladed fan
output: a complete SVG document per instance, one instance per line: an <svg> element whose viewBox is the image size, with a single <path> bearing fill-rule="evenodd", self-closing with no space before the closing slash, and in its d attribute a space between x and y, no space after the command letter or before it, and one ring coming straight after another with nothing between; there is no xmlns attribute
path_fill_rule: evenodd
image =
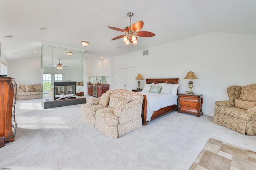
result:
<svg viewBox="0 0 256 170"><path fill-rule="evenodd" d="M156 36L138 37L138 45L129 46L111 41L123 33L107 26L124 29L128 12L132 23L144 21L141 31ZM40 57L42 43L100 59L209 31L256 34L256 0L0 0L0 42L9 61ZM81 41L90 44L84 48Z"/></svg>

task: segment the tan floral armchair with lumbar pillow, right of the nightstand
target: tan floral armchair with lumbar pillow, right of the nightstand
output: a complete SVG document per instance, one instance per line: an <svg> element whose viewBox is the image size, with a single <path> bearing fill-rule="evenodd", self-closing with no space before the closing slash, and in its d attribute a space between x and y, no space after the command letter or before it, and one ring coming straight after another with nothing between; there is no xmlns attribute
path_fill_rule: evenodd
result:
<svg viewBox="0 0 256 170"><path fill-rule="evenodd" d="M229 86L229 101L216 101L213 122L242 134L256 135L256 84Z"/></svg>

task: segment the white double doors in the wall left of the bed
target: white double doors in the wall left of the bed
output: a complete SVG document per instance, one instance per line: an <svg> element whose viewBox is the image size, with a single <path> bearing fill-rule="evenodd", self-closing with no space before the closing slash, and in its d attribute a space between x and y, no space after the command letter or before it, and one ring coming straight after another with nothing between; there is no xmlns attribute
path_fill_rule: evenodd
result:
<svg viewBox="0 0 256 170"><path fill-rule="evenodd" d="M132 91L136 89L136 67L116 70L116 87Z"/></svg>

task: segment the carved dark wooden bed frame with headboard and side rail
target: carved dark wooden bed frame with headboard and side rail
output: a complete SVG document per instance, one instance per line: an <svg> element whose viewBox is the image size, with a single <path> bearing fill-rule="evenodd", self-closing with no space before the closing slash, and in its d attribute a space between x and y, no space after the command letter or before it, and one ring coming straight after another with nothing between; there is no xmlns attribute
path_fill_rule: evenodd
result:
<svg viewBox="0 0 256 170"><path fill-rule="evenodd" d="M146 79L146 84L158 84L158 83L168 83L168 84L178 84L179 78L150 78ZM177 95L178 95L178 90L177 90ZM144 96L143 100L143 106L142 106L142 125L147 125L148 121L146 120L147 118L147 97L146 95ZM177 100L177 105L172 105L172 106L167 106L164 108L159 109L158 111L154 111L153 115L151 116L151 121L161 117L163 115L166 115L167 113L170 113L172 111L177 111L178 110L178 100Z"/></svg>

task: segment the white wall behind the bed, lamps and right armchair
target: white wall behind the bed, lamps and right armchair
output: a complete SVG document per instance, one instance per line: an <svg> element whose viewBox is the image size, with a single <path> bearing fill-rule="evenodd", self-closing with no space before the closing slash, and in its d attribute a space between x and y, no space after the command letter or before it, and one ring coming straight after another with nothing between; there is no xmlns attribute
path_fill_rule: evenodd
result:
<svg viewBox="0 0 256 170"><path fill-rule="evenodd" d="M255 47L256 35L209 32L149 48L147 57L142 51L115 57L114 67L136 66L145 79L179 78L180 93L189 90L189 80L183 78L192 71L198 78L193 91L203 95L204 114L213 116L215 101L228 100L228 86L256 84ZM145 80L141 82L143 88Z"/></svg>

